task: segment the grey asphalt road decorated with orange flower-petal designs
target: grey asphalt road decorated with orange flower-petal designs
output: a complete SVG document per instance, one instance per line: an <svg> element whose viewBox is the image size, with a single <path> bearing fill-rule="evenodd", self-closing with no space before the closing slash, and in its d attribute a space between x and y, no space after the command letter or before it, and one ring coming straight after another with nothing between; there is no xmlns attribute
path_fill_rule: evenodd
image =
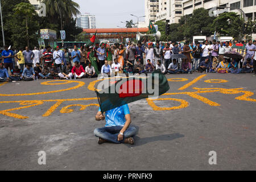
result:
<svg viewBox="0 0 256 182"><path fill-rule="evenodd" d="M84 85L40 84L46 80L2 85L0 170L255 170L256 77L207 73L180 89L201 75L167 75L187 78L169 82L169 93L183 94L160 97L179 101L156 100L154 107L146 100L129 104L132 123L139 129L134 146L97 144L93 130L105 125L104 121L95 121L98 107L79 107L97 104L96 94L88 90L96 78L76 80ZM205 82L209 79L227 82ZM79 88L69 89L78 84ZM195 93L196 88L208 89ZM61 89L69 90L51 92ZM38 92L51 93L35 94ZM65 108L77 104L80 105ZM174 108L153 109L160 107ZM12 110L3 111L7 109ZM46 152L46 165L38 164L39 151ZM210 151L216 152L217 164L209 164Z"/></svg>

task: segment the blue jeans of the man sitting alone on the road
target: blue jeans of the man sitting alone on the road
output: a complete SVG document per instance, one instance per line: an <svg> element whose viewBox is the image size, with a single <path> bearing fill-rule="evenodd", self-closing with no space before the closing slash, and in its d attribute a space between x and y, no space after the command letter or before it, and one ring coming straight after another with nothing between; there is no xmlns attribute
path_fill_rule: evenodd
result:
<svg viewBox="0 0 256 182"><path fill-rule="evenodd" d="M101 127L94 130L94 135L96 137L100 137L102 139L108 140L113 143L124 143L125 138L132 137L137 133L137 129L135 127L128 127L128 129L123 133L123 140L118 141L117 136L119 131L121 131L123 126L109 126L109 127Z"/></svg>

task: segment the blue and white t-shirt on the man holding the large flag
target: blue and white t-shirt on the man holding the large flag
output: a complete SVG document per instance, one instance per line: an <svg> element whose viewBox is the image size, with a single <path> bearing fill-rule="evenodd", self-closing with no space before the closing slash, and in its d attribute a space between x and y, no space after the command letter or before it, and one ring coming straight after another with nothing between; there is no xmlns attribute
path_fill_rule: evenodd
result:
<svg viewBox="0 0 256 182"><path fill-rule="evenodd" d="M101 109L98 109L101 111ZM130 114L130 110L127 104L120 107L116 107L112 110L105 112L106 115L106 127L108 126L124 126L126 119L125 115Z"/></svg>

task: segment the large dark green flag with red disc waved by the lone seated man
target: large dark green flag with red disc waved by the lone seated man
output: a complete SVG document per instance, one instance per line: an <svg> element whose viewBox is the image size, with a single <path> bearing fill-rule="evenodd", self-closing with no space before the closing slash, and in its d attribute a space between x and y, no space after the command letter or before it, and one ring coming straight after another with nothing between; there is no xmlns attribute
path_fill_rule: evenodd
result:
<svg viewBox="0 0 256 182"><path fill-rule="evenodd" d="M162 72L156 70L145 78L122 78L108 88L96 91L102 113L143 98L156 97L170 89Z"/></svg>

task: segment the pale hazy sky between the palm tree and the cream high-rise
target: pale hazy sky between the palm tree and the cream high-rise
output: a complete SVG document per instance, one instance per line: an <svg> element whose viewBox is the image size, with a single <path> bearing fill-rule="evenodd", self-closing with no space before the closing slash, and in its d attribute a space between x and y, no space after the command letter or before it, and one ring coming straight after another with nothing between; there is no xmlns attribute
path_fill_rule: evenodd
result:
<svg viewBox="0 0 256 182"><path fill-rule="evenodd" d="M126 20L137 18L131 16L144 16L144 0L73 0L80 6L81 14L90 13L96 15L97 28L125 27ZM139 22L144 19L140 18Z"/></svg>

